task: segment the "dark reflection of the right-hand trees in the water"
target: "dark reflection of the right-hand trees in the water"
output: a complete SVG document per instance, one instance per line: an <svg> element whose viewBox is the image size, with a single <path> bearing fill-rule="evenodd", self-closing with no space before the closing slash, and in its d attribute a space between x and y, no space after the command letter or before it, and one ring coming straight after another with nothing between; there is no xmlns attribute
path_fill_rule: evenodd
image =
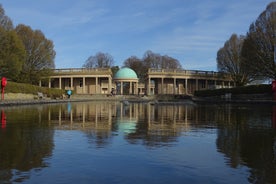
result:
<svg viewBox="0 0 276 184"><path fill-rule="evenodd" d="M250 183L276 182L275 131L271 127L270 109L266 106L232 107L231 124L220 122L218 126L219 151L230 159L231 167L251 168Z"/></svg>

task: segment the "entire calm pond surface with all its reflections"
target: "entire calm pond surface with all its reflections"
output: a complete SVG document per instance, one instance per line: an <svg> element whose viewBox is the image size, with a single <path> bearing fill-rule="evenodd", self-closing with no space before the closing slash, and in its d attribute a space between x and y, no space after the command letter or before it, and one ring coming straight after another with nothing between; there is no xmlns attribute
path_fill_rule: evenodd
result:
<svg viewBox="0 0 276 184"><path fill-rule="evenodd" d="M270 105L2 108L0 183L276 183L275 125Z"/></svg>

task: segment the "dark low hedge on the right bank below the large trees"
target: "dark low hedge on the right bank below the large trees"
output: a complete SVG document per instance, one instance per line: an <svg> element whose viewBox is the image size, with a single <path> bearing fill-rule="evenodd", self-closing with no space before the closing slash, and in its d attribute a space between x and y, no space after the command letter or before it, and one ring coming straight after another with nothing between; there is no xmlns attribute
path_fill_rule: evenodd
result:
<svg viewBox="0 0 276 184"><path fill-rule="evenodd" d="M272 93L270 84L261 84L261 85L250 85L236 88L222 88L222 89L213 89L213 90L200 90L195 91L195 96L198 97L211 97L211 96L220 96L225 93L231 93L233 95L237 94L264 94Z"/></svg>

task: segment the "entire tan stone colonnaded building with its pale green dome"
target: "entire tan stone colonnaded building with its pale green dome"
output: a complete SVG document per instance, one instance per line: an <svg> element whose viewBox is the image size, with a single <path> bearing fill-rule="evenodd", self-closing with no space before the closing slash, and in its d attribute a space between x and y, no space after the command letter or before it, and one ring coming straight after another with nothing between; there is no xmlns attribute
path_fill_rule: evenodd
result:
<svg viewBox="0 0 276 184"><path fill-rule="evenodd" d="M213 71L149 69L145 75L145 83L139 83L135 71L127 67L121 68L114 77L109 68L55 69L48 87L73 90L74 94L115 91L117 95L192 95L197 90L235 85L229 75Z"/></svg>

